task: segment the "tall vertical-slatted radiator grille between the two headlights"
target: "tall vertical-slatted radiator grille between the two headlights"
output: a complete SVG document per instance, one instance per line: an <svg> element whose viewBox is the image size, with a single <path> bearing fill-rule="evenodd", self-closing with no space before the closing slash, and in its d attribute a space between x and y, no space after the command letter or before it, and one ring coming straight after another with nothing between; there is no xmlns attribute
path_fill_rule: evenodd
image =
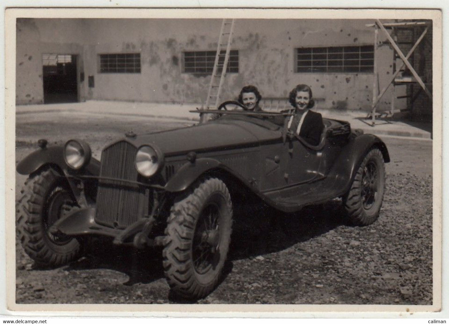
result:
<svg viewBox="0 0 449 324"><path fill-rule="evenodd" d="M134 165L136 153L136 147L126 141L112 144L101 153L95 215L97 223L125 228L148 215L150 190L139 184L120 181L138 180Z"/></svg>

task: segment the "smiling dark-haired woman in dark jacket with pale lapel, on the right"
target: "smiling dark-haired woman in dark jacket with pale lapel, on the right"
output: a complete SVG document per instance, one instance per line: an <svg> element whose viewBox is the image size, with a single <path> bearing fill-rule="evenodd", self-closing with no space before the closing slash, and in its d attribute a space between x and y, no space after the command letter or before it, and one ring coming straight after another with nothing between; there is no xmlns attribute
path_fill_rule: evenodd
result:
<svg viewBox="0 0 449 324"><path fill-rule="evenodd" d="M287 118L287 128L309 144L318 145L324 125L321 114L310 110L315 104L312 89L306 84L298 84L290 92L288 99L295 109Z"/></svg>

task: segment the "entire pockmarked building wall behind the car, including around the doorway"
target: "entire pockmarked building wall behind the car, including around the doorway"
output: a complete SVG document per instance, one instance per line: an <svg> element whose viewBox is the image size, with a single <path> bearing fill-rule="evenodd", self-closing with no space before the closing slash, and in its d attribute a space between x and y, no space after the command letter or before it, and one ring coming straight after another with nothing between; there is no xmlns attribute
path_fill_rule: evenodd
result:
<svg viewBox="0 0 449 324"><path fill-rule="evenodd" d="M283 97L296 84L306 83L320 108L370 111L373 73L295 73L294 56L295 48L301 46L373 44L374 29L365 26L372 22L237 20L232 48L239 50L239 73L227 74L221 98L235 99L246 84L257 86L264 97ZM60 53L79 56L79 70L85 74L79 88L81 101L201 105L211 77L182 73L182 53L216 50L220 26L220 19L19 19L17 103L42 102L42 54ZM141 73L99 73L102 53L141 53ZM392 72L392 49L382 46L378 55L382 89ZM88 76L95 80L93 88L88 87ZM389 108L390 91L379 110Z"/></svg>

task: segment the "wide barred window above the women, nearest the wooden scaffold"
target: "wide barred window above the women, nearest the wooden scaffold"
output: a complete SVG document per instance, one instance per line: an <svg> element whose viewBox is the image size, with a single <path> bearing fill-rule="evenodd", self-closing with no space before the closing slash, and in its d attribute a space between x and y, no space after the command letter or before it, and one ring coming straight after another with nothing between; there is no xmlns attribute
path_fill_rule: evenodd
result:
<svg viewBox="0 0 449 324"><path fill-rule="evenodd" d="M373 72L374 45L296 48L296 72Z"/></svg>

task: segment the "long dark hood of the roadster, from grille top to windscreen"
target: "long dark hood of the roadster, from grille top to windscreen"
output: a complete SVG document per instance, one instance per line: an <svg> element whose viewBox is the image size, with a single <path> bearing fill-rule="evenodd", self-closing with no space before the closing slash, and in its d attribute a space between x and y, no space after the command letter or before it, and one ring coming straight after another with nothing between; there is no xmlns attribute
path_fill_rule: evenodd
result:
<svg viewBox="0 0 449 324"><path fill-rule="evenodd" d="M191 127L178 128L145 135L137 135L127 140L139 147L145 144L156 145L166 156L191 151L200 153L220 149L258 146L260 140L280 137L280 132L244 121L228 123L211 122Z"/></svg>

